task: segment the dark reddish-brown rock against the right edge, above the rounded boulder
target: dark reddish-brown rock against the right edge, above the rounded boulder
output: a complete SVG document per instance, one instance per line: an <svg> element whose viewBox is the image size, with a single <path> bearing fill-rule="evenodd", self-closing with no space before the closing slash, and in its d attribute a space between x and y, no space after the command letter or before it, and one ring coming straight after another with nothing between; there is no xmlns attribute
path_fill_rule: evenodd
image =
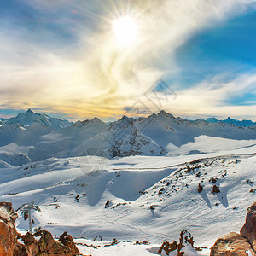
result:
<svg viewBox="0 0 256 256"><path fill-rule="evenodd" d="M253 250L256 251L256 202L247 208L246 222L242 226L240 234L247 238Z"/></svg>

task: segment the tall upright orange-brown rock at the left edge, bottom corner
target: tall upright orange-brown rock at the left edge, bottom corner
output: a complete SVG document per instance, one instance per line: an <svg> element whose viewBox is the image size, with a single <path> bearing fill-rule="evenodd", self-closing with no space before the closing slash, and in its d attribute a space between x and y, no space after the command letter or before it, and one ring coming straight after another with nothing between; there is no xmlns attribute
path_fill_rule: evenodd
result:
<svg viewBox="0 0 256 256"><path fill-rule="evenodd" d="M12 256L16 242L15 213L12 203L0 202L0 255Z"/></svg>

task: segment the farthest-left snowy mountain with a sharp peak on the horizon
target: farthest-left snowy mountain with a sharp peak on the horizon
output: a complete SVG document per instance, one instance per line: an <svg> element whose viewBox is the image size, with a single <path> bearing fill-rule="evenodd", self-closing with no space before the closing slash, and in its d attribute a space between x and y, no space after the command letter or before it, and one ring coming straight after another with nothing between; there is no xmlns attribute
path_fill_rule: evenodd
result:
<svg viewBox="0 0 256 256"><path fill-rule="evenodd" d="M72 123L70 123L67 120L51 118L45 113L34 113L31 109L28 109L26 113L19 113L16 117L9 119L1 119L1 121L3 124L6 125L20 124L25 127L34 124L40 124L54 130L60 130L62 128L66 128L67 126L72 125Z"/></svg>

